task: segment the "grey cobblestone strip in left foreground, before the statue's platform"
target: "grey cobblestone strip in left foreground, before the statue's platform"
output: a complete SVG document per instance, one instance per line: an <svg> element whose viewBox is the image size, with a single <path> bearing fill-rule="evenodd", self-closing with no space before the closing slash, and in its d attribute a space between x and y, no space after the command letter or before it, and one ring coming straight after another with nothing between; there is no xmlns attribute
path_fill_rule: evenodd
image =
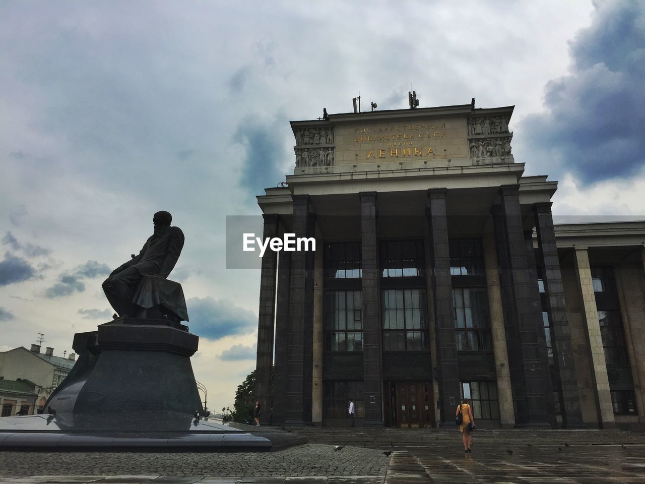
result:
<svg viewBox="0 0 645 484"><path fill-rule="evenodd" d="M0 482L13 482L6 480L9 477L37 475L135 475L155 478L377 476L376 481L382 482L389 460L375 449L348 446L336 452L332 445L324 444L307 444L266 453L0 452L0 476L5 476L5 480L0 479ZM188 481L192 483L197 479L194 477L194 480ZM145 481L150 481L150 478ZM181 479L176 481L188 482ZM157 482L160 482L159 479L155 480Z"/></svg>

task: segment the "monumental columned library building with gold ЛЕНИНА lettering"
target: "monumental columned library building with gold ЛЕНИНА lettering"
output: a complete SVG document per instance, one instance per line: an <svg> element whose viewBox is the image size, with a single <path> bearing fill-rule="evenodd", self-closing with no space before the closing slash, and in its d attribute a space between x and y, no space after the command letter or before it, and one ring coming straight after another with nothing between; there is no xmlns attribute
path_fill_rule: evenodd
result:
<svg viewBox="0 0 645 484"><path fill-rule="evenodd" d="M293 121L295 168L257 200L257 385L273 423L491 427L645 421L645 222L554 225L513 106ZM641 378L644 380L641 381Z"/></svg>

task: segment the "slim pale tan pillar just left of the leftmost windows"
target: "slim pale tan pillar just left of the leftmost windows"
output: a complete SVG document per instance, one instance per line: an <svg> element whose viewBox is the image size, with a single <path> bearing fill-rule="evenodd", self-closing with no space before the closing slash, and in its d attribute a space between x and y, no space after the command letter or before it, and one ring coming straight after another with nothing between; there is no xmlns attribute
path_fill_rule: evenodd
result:
<svg viewBox="0 0 645 484"><path fill-rule="evenodd" d="M316 234L317 240L322 237ZM313 272L312 421L323 423L323 247L316 247Z"/></svg>

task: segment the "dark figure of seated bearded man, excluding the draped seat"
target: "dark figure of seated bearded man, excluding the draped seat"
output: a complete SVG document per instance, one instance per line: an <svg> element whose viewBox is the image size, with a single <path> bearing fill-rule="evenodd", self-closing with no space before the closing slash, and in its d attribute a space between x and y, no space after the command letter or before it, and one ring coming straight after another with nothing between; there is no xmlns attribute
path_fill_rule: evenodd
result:
<svg viewBox="0 0 645 484"><path fill-rule="evenodd" d="M168 277L184 247L184 234L170 227L172 215L157 212L152 217L154 234L148 238L138 256L115 268L103 282L103 291L119 316L134 317L138 310L133 299L137 285L145 276ZM183 295L182 295L183 298Z"/></svg>

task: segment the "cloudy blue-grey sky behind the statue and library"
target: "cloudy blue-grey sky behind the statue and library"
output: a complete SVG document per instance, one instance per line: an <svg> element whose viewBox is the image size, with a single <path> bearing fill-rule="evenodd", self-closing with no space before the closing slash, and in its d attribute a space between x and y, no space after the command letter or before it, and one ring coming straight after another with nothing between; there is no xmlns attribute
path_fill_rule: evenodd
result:
<svg viewBox="0 0 645 484"><path fill-rule="evenodd" d="M255 367L259 271L226 270L225 217L293 172L290 120L406 108L411 86L515 105L515 160L560 181L555 214L642 218L638 0L5 0L0 65L0 350L70 352L168 210L212 408Z"/></svg>

